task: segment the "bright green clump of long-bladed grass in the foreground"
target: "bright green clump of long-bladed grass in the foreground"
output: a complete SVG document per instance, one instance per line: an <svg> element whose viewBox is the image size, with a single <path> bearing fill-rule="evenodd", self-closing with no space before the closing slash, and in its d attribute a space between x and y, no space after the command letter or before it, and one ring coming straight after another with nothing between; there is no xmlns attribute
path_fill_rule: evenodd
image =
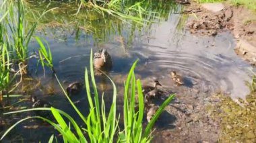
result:
<svg viewBox="0 0 256 143"><path fill-rule="evenodd" d="M111 107L109 111L107 112L105 109L104 99L102 95L102 103L100 105L99 97L98 97L98 91L96 87L96 82L94 79L94 67L93 67L93 59L92 59L92 50L91 50L91 56L90 56L90 79L92 82L92 89L94 91L94 96L92 95L90 91L90 82L89 82L89 76L88 76L88 69L85 70L85 83L86 83L86 92L88 97L88 102L90 105L90 113L88 116L82 115L82 113L77 109L77 107L74 105L73 101L69 98L67 93L65 92L65 89L61 86L61 83L59 82L59 79L57 78L57 75L55 74L55 77L57 81L59 82L59 85L61 86L61 89L63 89L63 92L65 93L65 96L79 115L81 119L84 121L84 124L86 125L86 128L80 128L75 120L65 113L64 111L61 111L59 109L55 109L54 107L51 108L34 108L34 109L24 109L20 111L12 111L9 113L21 113L24 111L33 111L33 110L48 110L53 113L53 116L55 117L55 120L57 121L57 124L55 124L53 121L40 116L32 116L32 117L26 117L18 122L16 122L13 126L11 126L3 136L1 137L1 140L18 124L21 122L24 122L25 120L30 120L32 118L39 118L41 120L44 120L45 122L48 122L51 124L51 126L55 127L56 130L58 130L63 135L64 142L150 142L152 139L150 133L151 129L156 122L157 118L159 117L160 113L162 113L164 107L170 103L174 95L170 95L166 101L160 106L148 126L145 130L143 130L142 127L142 121L143 121L143 111L144 111L144 105L143 105L143 95L141 90L141 83L139 79L136 81L135 75L134 75L134 69L137 64L136 60L133 63L133 66L131 66L131 70L129 71L129 75L127 76L127 81L125 83L125 93L124 93L124 125L125 129L118 134L118 138L115 138L117 135L117 128L119 128L119 117L117 118L116 110L117 110L117 88L115 86L115 83L110 79L111 83L113 84L113 101L111 104ZM135 111L135 95L136 95L136 87L137 87L137 93L139 97L139 111ZM106 115L108 113L108 115ZM63 119L63 117L67 118L67 120L71 123L73 128L70 128L70 126L67 125L67 122ZM75 135L75 130L77 136ZM86 136L84 135L86 134ZM88 136L88 138L87 138ZM53 141L53 136L51 136L50 140Z"/></svg>

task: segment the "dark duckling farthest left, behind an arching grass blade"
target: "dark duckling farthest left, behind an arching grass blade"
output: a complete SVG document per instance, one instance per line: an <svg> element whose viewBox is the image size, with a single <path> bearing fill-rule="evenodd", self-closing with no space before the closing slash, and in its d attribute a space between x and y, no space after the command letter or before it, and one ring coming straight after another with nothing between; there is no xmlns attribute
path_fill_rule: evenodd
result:
<svg viewBox="0 0 256 143"><path fill-rule="evenodd" d="M37 99L36 96L32 96L32 108L36 107L52 107L52 104L49 101L46 101L44 99ZM49 115L48 111L34 111L37 115L40 115L42 117L46 117Z"/></svg>

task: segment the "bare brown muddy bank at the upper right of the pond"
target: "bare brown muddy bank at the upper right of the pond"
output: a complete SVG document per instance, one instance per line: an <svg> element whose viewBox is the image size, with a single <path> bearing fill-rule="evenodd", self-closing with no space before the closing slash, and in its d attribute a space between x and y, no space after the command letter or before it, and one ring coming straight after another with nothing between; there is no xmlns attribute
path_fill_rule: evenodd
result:
<svg viewBox="0 0 256 143"><path fill-rule="evenodd" d="M228 4L191 3L185 8L191 13L187 28L199 36L216 36L230 30L236 38L236 54L250 64L256 63L256 14L242 6ZM192 14L193 13L193 14Z"/></svg>

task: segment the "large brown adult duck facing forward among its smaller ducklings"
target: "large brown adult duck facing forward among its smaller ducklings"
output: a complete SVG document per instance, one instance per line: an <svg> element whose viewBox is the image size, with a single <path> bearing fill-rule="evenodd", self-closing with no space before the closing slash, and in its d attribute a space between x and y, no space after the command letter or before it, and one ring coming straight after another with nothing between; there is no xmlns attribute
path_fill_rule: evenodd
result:
<svg viewBox="0 0 256 143"><path fill-rule="evenodd" d="M94 53L94 67L99 69L110 69L112 68L112 60L106 49L100 49Z"/></svg>

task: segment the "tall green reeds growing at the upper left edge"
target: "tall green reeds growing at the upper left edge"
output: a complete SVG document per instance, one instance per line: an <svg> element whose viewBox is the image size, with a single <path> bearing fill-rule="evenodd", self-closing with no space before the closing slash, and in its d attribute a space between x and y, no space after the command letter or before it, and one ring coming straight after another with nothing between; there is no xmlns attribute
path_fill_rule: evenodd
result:
<svg viewBox="0 0 256 143"><path fill-rule="evenodd" d="M26 9L24 7L24 1L4 1L1 3L1 13L6 13L5 17L1 17L3 19L1 21L3 32L1 39L3 43L7 44L7 50L11 54L13 64L18 62L22 75L26 75L27 73L27 60L30 58L28 44L30 44L30 40L36 30L36 24L45 13L51 10L44 9L39 17L36 17L36 21L28 25L28 21L25 19Z"/></svg>

